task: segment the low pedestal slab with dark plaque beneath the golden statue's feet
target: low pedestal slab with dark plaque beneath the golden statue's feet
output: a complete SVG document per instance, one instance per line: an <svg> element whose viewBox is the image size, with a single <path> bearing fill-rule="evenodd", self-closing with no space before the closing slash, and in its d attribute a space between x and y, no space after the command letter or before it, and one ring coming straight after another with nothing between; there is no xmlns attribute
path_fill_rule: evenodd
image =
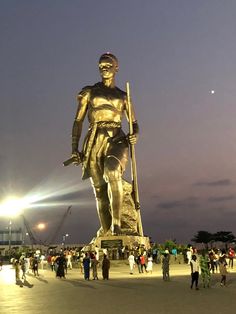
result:
<svg viewBox="0 0 236 314"><path fill-rule="evenodd" d="M117 249L127 247L129 250L143 246L146 249L150 248L150 240L148 237L133 236L133 235L110 235L94 238L90 242L91 247L100 249Z"/></svg>

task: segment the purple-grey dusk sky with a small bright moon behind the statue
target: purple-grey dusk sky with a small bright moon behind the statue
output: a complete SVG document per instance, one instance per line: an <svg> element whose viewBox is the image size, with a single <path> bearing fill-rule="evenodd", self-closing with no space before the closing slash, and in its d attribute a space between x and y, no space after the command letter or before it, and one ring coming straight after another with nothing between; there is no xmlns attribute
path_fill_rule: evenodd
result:
<svg viewBox="0 0 236 314"><path fill-rule="evenodd" d="M159 243L189 243L199 230L236 235L235 12L235 0L0 0L0 201L33 198L25 217L32 229L46 223L41 239L69 205L57 241L95 236L90 182L62 162L76 94L100 81L98 59L109 51L140 125L145 235ZM1 229L7 223L0 218Z"/></svg>

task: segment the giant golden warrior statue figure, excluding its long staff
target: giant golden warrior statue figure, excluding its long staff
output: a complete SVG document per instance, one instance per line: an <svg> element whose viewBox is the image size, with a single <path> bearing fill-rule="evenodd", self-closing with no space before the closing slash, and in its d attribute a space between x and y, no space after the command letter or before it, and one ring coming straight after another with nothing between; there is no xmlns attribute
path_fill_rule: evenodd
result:
<svg viewBox="0 0 236 314"><path fill-rule="evenodd" d="M124 203L122 174L129 158L129 145L136 144L139 128L132 107L128 107L127 93L115 86L117 58L111 53L103 54L99 59L99 72L102 81L84 87L77 96L70 161L82 163L82 178L91 180L101 224L98 236L120 235ZM79 152L86 115L90 125ZM121 128L124 116L131 119L132 134L126 135ZM137 234L142 235L138 231Z"/></svg>

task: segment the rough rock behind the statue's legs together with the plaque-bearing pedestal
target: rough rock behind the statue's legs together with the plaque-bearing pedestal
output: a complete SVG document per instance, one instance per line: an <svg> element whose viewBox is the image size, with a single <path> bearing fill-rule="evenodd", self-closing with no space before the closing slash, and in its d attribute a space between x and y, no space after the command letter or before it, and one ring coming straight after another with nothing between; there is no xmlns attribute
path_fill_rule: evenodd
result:
<svg viewBox="0 0 236 314"><path fill-rule="evenodd" d="M111 230L104 234L99 229L97 236L89 244L90 249L93 247L103 248L122 248L127 247L134 249L137 246L143 246L146 249L150 247L149 237L144 237L139 233L140 216L135 208L132 197L132 185L126 180L123 183L123 205L121 211L121 235L112 235Z"/></svg>

